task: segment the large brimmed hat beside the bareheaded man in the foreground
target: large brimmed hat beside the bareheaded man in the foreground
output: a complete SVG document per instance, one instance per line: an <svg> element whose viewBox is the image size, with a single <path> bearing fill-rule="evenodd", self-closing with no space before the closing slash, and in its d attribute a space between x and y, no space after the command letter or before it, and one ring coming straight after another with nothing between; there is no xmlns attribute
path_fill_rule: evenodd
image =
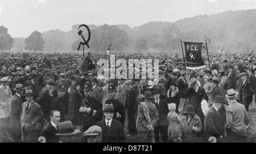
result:
<svg viewBox="0 0 256 154"><path fill-rule="evenodd" d="M79 129L77 130L74 129L71 121L65 121L65 122L59 123L59 133L55 135L68 136L68 135L75 135L79 132L80 132Z"/></svg>

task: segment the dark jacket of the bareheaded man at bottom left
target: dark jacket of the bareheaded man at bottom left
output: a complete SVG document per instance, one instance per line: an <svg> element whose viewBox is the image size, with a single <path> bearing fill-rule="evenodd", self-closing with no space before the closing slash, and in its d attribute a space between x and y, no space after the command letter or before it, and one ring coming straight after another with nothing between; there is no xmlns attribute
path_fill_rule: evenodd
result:
<svg viewBox="0 0 256 154"><path fill-rule="evenodd" d="M44 126L41 136L46 138L46 143L59 143L59 136L55 134L59 133L55 127L52 126L51 122L48 122L46 126Z"/></svg>

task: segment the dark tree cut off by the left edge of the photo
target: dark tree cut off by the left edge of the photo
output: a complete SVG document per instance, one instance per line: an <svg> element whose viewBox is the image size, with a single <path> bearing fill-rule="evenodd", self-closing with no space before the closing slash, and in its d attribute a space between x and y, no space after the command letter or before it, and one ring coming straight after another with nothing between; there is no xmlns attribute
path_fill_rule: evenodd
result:
<svg viewBox="0 0 256 154"><path fill-rule="evenodd" d="M0 27L0 49L10 50L13 47L13 38L7 33L6 27Z"/></svg>

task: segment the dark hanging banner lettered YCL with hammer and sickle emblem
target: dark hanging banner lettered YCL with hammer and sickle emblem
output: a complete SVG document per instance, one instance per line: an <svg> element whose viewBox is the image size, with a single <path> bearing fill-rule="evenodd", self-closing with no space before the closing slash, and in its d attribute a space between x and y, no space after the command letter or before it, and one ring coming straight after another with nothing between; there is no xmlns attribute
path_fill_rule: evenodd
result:
<svg viewBox="0 0 256 154"><path fill-rule="evenodd" d="M184 42L185 47L185 63L187 69L205 68L204 61L201 56L202 43Z"/></svg>

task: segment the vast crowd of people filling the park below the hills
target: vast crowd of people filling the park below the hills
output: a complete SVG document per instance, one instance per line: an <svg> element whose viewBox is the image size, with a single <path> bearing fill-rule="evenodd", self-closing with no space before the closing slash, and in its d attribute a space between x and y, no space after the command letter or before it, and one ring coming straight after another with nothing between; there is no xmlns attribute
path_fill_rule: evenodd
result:
<svg viewBox="0 0 256 154"><path fill-rule="evenodd" d="M254 52L203 54L199 70L182 52L110 53L158 59L158 82L98 76L108 52L1 52L0 142L246 142Z"/></svg>

